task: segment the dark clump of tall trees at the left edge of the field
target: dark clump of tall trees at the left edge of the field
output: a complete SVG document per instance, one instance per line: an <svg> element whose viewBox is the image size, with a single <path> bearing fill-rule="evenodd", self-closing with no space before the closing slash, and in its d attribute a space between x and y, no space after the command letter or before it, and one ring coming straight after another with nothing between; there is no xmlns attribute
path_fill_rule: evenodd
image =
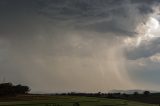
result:
<svg viewBox="0 0 160 106"><path fill-rule="evenodd" d="M15 96L18 94L27 94L30 91L28 86L13 85L12 83L0 84L0 96Z"/></svg>

